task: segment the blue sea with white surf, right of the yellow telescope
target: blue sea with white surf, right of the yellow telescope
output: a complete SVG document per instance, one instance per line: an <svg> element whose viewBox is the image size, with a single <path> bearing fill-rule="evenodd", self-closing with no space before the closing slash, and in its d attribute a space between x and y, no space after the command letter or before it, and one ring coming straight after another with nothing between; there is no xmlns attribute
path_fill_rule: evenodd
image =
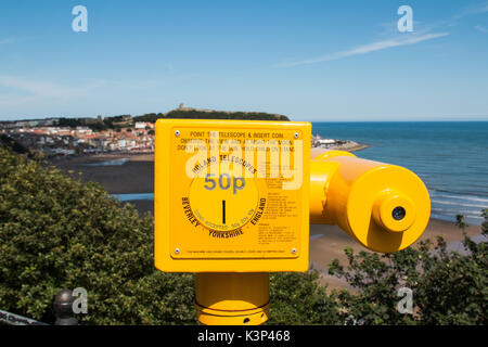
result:
<svg viewBox="0 0 488 347"><path fill-rule="evenodd" d="M370 147L358 157L403 166L431 195L432 218L481 224L488 208L488 121L312 123L312 133Z"/></svg>

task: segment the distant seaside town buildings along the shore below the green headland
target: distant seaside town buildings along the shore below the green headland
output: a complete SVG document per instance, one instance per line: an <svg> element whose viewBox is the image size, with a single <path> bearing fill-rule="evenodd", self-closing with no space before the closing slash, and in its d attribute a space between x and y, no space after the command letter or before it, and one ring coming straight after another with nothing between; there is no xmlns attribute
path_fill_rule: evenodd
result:
<svg viewBox="0 0 488 347"><path fill-rule="evenodd" d="M171 112L214 113L214 110L185 107L182 103ZM228 114L228 112L220 112ZM229 113L230 114L230 113ZM249 113L253 115L254 113ZM152 114L150 115L152 116ZM0 136L16 141L26 149L48 156L84 155L106 152L151 153L154 151L154 121L158 118L120 115L97 118L47 118L0 121ZM271 115L280 116L280 115ZM142 121L144 119L144 121ZM150 120L150 121L145 121ZM152 121L151 121L152 120ZM311 147L359 151L368 145L349 140L323 139L311 136Z"/></svg>

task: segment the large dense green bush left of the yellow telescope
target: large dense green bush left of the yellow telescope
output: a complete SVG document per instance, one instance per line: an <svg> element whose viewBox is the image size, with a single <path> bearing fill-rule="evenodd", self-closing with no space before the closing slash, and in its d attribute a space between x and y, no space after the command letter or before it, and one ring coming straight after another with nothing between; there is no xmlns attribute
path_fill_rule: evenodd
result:
<svg viewBox="0 0 488 347"><path fill-rule="evenodd" d="M153 262L153 220L0 146L0 308L53 322L62 288L88 292L82 324L194 323L193 277Z"/></svg>

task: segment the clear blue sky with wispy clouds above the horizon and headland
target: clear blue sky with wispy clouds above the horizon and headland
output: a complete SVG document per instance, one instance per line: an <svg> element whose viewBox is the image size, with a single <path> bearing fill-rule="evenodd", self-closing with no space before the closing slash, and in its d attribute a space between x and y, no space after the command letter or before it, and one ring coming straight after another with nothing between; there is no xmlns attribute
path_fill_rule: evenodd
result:
<svg viewBox="0 0 488 347"><path fill-rule="evenodd" d="M88 33L75 33L75 5ZM413 31L399 33L400 5ZM0 120L187 106L488 120L488 1L0 3Z"/></svg>

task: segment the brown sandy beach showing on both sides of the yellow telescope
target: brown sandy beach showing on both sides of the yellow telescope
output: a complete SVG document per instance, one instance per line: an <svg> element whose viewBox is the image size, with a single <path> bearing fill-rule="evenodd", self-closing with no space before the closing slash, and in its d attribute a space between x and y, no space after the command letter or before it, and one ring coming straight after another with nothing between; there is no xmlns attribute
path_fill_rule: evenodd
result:
<svg viewBox="0 0 488 347"><path fill-rule="evenodd" d="M312 156L319 152L313 151ZM128 158L118 166L87 166L105 160ZM89 157L64 158L51 165L64 172L77 177L82 172L84 181L94 181L102 184L111 194L151 193L154 191L154 162L152 154L126 155L112 154ZM141 215L150 211L154 214L152 201L131 201ZM466 233L471 236L480 234L479 226L470 226ZM428 227L420 240L435 240L442 236L448 243L463 239L461 230L452 222L431 219ZM347 264L344 248L351 247L355 252L364 249L348 234L335 226L310 226L310 266L320 270L322 282L330 288L347 287L347 283L326 274L328 265L337 258L343 265Z"/></svg>

